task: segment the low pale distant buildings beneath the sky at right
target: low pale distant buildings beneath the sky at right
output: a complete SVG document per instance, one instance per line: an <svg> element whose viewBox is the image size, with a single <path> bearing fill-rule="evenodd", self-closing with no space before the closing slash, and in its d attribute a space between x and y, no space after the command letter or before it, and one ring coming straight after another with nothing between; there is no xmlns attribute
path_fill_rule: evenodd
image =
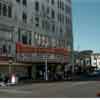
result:
<svg viewBox="0 0 100 100"><path fill-rule="evenodd" d="M82 71L100 69L100 53L91 50L75 52L74 58L74 64L81 67Z"/></svg>

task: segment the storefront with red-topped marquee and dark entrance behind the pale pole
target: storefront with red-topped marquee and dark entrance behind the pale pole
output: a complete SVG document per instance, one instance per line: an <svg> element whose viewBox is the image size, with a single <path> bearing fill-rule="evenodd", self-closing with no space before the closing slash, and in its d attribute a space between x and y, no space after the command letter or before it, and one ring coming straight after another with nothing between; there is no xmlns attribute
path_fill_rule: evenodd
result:
<svg viewBox="0 0 100 100"><path fill-rule="evenodd" d="M53 80L59 79L58 76L62 76L63 79L64 65L68 58L67 49L35 48L17 43L16 53L18 62L32 63L32 68L28 69L28 73L33 79Z"/></svg>

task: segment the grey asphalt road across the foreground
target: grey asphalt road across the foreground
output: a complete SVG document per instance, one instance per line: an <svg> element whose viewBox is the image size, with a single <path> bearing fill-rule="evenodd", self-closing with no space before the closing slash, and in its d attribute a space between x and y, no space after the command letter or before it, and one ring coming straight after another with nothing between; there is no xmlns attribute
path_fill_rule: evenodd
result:
<svg viewBox="0 0 100 100"><path fill-rule="evenodd" d="M2 98L95 98L100 81L38 83L0 87Z"/></svg>

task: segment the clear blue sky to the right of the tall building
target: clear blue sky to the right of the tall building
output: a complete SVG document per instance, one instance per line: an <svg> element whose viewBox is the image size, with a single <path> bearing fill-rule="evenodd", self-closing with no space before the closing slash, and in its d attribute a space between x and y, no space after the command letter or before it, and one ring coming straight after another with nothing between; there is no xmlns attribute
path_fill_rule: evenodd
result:
<svg viewBox="0 0 100 100"><path fill-rule="evenodd" d="M72 0L75 50L100 52L100 0Z"/></svg>

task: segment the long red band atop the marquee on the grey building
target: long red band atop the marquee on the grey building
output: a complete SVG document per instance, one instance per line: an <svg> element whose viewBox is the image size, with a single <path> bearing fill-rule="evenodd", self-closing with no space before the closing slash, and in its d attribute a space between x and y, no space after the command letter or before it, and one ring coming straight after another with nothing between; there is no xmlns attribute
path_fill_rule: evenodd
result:
<svg viewBox="0 0 100 100"><path fill-rule="evenodd" d="M66 48L36 48L29 45L23 45L21 43L16 43L17 53L47 53L47 54L59 54L68 55L68 50Z"/></svg>

